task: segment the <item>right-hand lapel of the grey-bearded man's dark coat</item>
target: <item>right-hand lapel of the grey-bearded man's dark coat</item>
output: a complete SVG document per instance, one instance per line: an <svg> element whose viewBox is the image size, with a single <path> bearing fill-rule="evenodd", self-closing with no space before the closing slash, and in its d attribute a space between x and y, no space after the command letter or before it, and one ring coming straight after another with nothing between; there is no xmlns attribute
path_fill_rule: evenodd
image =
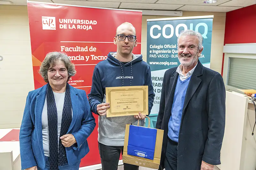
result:
<svg viewBox="0 0 256 170"><path fill-rule="evenodd" d="M193 74L190 78L189 84L188 84L188 89L187 89L187 92L186 92L184 105L183 105L183 110L182 110L183 114L184 114L184 111L185 111L186 107L188 106L188 103L189 103L190 99L195 94L196 90L198 89L199 85L202 82L202 80L199 78L202 75L203 75L203 65L198 60L196 69L193 72Z"/></svg>

